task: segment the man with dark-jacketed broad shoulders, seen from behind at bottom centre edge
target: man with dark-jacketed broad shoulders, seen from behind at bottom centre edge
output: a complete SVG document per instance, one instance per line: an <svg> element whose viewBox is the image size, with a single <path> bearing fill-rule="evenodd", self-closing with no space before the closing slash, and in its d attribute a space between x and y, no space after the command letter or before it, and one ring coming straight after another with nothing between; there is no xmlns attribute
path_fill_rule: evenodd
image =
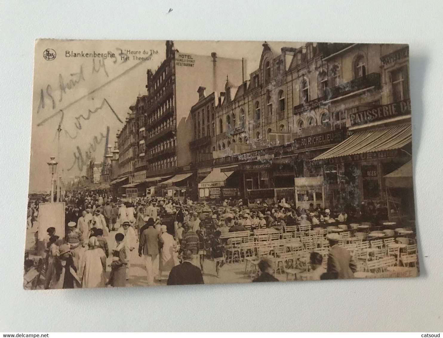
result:
<svg viewBox="0 0 443 338"><path fill-rule="evenodd" d="M191 263L192 251L187 249L183 252L183 263L171 269L167 279L167 285L205 284L202 272Z"/></svg>

